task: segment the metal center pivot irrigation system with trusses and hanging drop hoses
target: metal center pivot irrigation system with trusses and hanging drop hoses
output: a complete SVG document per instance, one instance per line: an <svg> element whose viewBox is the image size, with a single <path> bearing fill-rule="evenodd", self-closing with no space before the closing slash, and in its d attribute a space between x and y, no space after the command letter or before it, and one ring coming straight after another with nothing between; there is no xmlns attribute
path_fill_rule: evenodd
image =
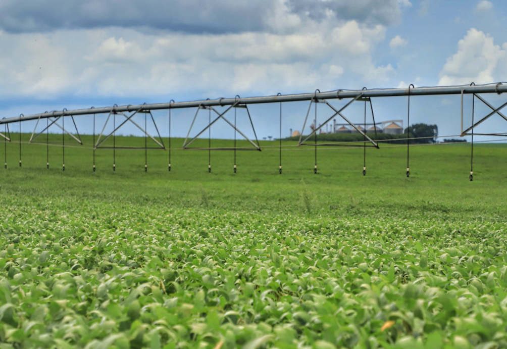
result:
<svg viewBox="0 0 507 349"><path fill-rule="evenodd" d="M483 97L481 97L479 94L487 94L487 93L497 93L501 94L503 92L507 92L507 84L502 83L493 83L493 84L486 84L486 85L475 85L474 83L470 85L463 85L463 86L444 86L444 87L414 87L414 85L410 85L408 88L393 88L393 89L372 89L368 90L366 87L363 88L363 90L337 90L337 91L329 91L329 92L320 92L319 90L315 90L314 93L302 93L302 94L278 94L276 96L260 96L260 97L247 97L247 98L241 98L239 96L236 96L235 98L219 98L219 99L206 99L206 100L197 100L197 101L186 101L186 102L175 102L174 100L171 100L168 103L156 103L156 104L141 104L141 105L131 105L128 106L117 106L115 104L113 107L104 107L104 108L90 108L90 109L79 109L79 110L66 110L63 109L62 111L53 111L53 112L45 112L42 114L33 114L29 116L24 116L21 114L19 117L15 118L4 118L0 120L0 124L5 125L5 133L0 132L0 136L5 138L5 143L11 142L10 137L10 129L9 124L11 123L19 123L19 133L21 136L21 123L24 121L29 120L37 120L37 123L35 124L35 128L33 129L33 132L30 137L29 144L32 143L37 137L39 137L41 134L46 131L46 133L49 132L49 128L53 125L59 127L62 130L62 148L63 148L63 166L62 169L65 170L65 153L64 153L64 134L67 133L69 136L75 139L76 142L78 142L80 145L83 145L83 142L81 141L81 136L79 134L76 122L74 117L75 116L93 116L93 171L95 171L95 150L97 149L144 149L145 150L145 163L144 163L144 170L148 171L148 162L147 162L147 150L148 149L161 149L161 150L168 150L169 151L169 163L168 163L168 170L171 170L171 110L172 109L182 109L182 108L196 108L196 113L194 116L194 119L192 120L192 124L190 125L190 129L187 133L187 136L185 138L185 141L182 146L182 150L189 150L189 149L199 149L199 150L208 150L208 153L210 154L211 150L234 150L234 172L236 172L236 150L244 150L244 147L236 147L236 133L241 134L246 141L248 141L253 148L253 150L261 151L261 146L259 144L259 141L257 139L257 134L255 131L255 127L253 126L253 121L250 116L250 112L248 110L249 104L260 104L260 103L279 103L280 104L280 138L279 138L279 150L280 150L280 164L279 164L279 173L282 173L282 156L281 156L281 150L282 150L282 144L281 144L281 120L282 120L282 103L284 102L294 102L294 101L310 101L310 104L308 106L308 111L306 113L306 118L303 124L302 131L305 129L306 123L308 121L308 116L310 115L312 103L315 106L315 118L314 118L314 125L315 127L312 128L312 132L307 135L303 136L300 135L298 147L300 146L308 146L313 145L315 147L315 165L314 165L314 173L317 173L317 132L328 122L330 122L333 118L340 116L345 122L347 122L350 126L352 126L357 132L359 132L361 135L363 135L363 147L365 149L364 151L364 167L363 167L363 175L366 175L366 147L367 144L369 144L369 147L375 147L379 149L379 141L374 141L371 137L369 137L363 130L366 131L366 109L367 109L367 103L370 103L370 108L372 111L372 118L373 118L373 124L375 125L375 116L373 114L373 105L372 105L372 98L374 97L394 97L394 96L407 96L407 119L408 119L408 125L410 127L410 97L411 96L426 96L426 95L448 95L448 94L461 94L461 134L460 136L464 135L471 135L472 136L472 153L471 153L471 160L470 160L470 181L473 180L473 154L474 154L474 128L483 123L486 119L491 117L494 114L498 114L500 117L502 117L505 121L507 121L507 117L503 115L500 110L503 109L505 106L507 106L507 102L503 103L500 107L495 108L490 103L488 103ZM463 130L463 97L464 95L472 94L472 124L470 127ZM488 106L492 111L488 115L481 118L479 121L474 122L474 103L475 98L478 98L480 101L482 101L486 106ZM345 104L344 107L337 110L335 107L333 107L327 100L329 99L349 99L348 103ZM364 108L364 125L365 128L361 129L361 126L356 126L353 124L350 120L348 120L342 112L350 106L354 101L364 101L365 102L365 108ZM334 112L334 114L327 120L325 120L323 123L321 123L320 126L317 126L317 108L316 103L323 103L326 104L331 110ZM226 107L229 106L225 111L219 112L214 107ZM236 109L237 108L244 108L246 109L248 119L250 121L250 125L253 130L253 134L255 135L255 142L252 141L252 139L248 138L241 130L239 130L236 127ZM234 109L234 122L229 121L226 118L226 114L231 110ZM164 142L162 141L162 137L160 135L160 132L158 130L157 124L155 123L155 119L153 118L152 111L153 110L169 110L168 113L168 123L169 123L169 145L166 148L164 145ZM192 128L194 126L195 120L197 118L197 115L200 110L207 110L208 111L208 125L202 129L200 132L198 132L193 138L190 138L190 134L192 132ZM104 123L104 126L102 127L102 131L100 132L97 139L95 139L95 115L96 114L108 114L107 119ZM137 114L143 114L144 115L144 128L136 123L133 120L133 116ZM211 117L213 115L213 118ZM122 117L121 123L117 126L116 125L116 117L120 116ZM148 123L148 116L151 119L151 122L153 122L153 125L155 126L155 129L157 131L157 136L154 137L147 131L147 123ZM65 129L64 119L65 117L70 117L70 119L73 121L74 127L76 129L76 135ZM107 135L104 134L105 127L107 126L107 123L110 121L111 117L113 117L113 131ZM41 119L46 119L46 127L39 133L35 134L35 130L37 129L37 126L39 125L39 122ZM219 119L223 119L227 124L229 124L234 129L234 147L233 148L211 148L211 144L208 143L208 148L191 148L189 147L197 137L202 135L206 130L208 130L208 139L210 139L210 128L211 125L213 125L216 121ZM61 125L58 123L58 121L61 120ZM139 147L116 147L116 142L113 141L113 147L105 147L101 146L106 139L113 136L113 139L115 139L115 134L123 125L125 125L127 122L131 122L134 124L137 128L139 128L142 133L144 134L144 148ZM376 127L375 129L375 135L377 133ZM506 136L507 133L476 133L476 135L497 135L497 136ZM311 137L314 137L314 143L313 144L307 144L305 143L308 141ZM147 146L147 137L150 137L158 147L148 147ZM49 139L49 138L47 138ZM409 160L410 160L410 133L407 132L407 138L405 140L407 141L407 177L410 176L410 169L409 169ZM381 142L381 141L380 141ZM48 141L49 144L49 141ZM49 154L49 148L48 148L48 154ZM21 138L19 142L19 166L21 166ZM116 169L116 158L115 158L115 152L113 153L113 170ZM48 162L47 167L49 168L49 155L48 155ZM6 149L6 162L5 162L5 168L7 168L7 149ZM211 161L210 161L210 155L208 156L208 171L211 172Z"/></svg>

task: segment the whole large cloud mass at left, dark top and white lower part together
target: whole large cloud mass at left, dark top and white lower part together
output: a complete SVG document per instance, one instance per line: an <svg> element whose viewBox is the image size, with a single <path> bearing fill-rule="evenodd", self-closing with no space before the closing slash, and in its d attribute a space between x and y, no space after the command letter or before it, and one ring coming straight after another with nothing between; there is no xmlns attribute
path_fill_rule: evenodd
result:
<svg viewBox="0 0 507 349"><path fill-rule="evenodd" d="M409 0L0 0L0 93L213 97L378 84L394 68L374 61L375 45L410 6Z"/></svg>

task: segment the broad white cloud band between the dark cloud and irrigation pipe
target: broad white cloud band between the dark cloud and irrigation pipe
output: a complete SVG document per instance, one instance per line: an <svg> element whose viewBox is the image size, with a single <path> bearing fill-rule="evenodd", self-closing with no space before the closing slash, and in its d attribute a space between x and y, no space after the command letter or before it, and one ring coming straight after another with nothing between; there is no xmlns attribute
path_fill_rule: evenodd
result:
<svg viewBox="0 0 507 349"><path fill-rule="evenodd" d="M393 67L373 62L383 25L348 21L296 33L142 33L135 29L4 32L0 93L38 99L174 93L276 93L338 89L343 80L384 82ZM37 41L36 41L37 40Z"/></svg>

